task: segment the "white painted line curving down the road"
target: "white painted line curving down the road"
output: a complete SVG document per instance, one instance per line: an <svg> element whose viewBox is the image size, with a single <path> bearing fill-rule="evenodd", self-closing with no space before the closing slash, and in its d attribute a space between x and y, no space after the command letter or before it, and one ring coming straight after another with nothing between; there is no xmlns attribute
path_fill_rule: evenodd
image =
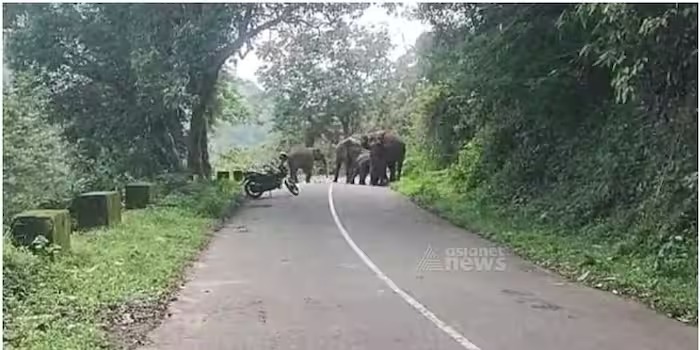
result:
<svg viewBox="0 0 700 350"><path fill-rule="evenodd" d="M350 234L348 231L345 229L343 226L343 223L340 222L340 218L338 217L338 213L335 211L335 205L333 204L333 184L330 184L328 186L328 206L331 210L331 216L333 216L333 220L335 221L335 225L338 227L338 230L340 233L343 235L343 238L345 238L345 241L348 242L350 247L355 251L355 253L362 259L362 261L367 265L367 267L372 270L377 277L384 281L391 290L396 292L401 298L407 302L409 305L411 305L416 311L418 311L421 315L425 316L430 322L432 322L436 327L438 327L440 330L443 332L447 333L452 339L454 339L459 345L462 345L463 348L468 349L468 350L481 350L478 346L474 345L472 342L469 341L465 336L461 335L459 332L457 332L454 328L450 327L447 323L443 322L441 319L439 319L437 316L435 316L434 313L432 313L430 310L428 310L427 307L425 307L423 304L418 302L418 300L413 299L408 293L404 292L401 288L399 288L394 281L392 281L389 276L387 276L382 270L377 267L377 265L372 262L372 260L365 254L365 252L360 249L360 247L355 244L355 241L352 240L350 237Z"/></svg>

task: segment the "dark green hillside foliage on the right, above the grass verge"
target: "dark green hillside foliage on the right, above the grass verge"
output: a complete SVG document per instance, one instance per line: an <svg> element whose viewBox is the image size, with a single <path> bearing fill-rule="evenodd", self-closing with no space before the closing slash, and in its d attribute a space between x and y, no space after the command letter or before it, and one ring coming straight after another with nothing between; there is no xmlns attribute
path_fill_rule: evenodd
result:
<svg viewBox="0 0 700 350"><path fill-rule="evenodd" d="M442 84L442 93L435 98L438 107L423 112L427 142L422 145L434 147L430 154L440 163L451 164L462 190L474 189L468 180L472 174L494 189L493 202L546 214L552 223L576 228L625 216L624 226L618 227L623 231L632 225L659 233L661 241L679 233L693 239L697 217L690 214L695 206L690 203L696 195L693 186L682 183L697 172L697 118L686 104L697 78L674 77L697 77L691 65L681 63L697 58L692 48L680 46L684 51L673 54L682 57L679 71L669 64L676 61L667 57L671 50L664 45L692 39L687 30L697 25L690 20L695 7L479 5L440 10L453 11L465 22L430 18L441 29L426 53L428 76ZM601 17L592 33L586 30ZM681 26L683 21L690 22ZM666 22L675 24L661 25ZM669 31L684 39L669 42ZM468 35L459 41L456 33ZM632 61L609 61L613 56ZM652 57L658 65L633 69ZM630 75L623 78L621 72ZM657 72L664 72L667 81L656 79ZM627 87L622 80L629 82ZM616 104L628 101L633 90L639 91L638 102ZM664 101L661 105L644 98L654 93ZM651 112L659 108L660 113ZM465 142L471 145L475 135L480 135L482 154L467 158L479 161L466 161L465 151L453 156ZM643 249L659 248L651 244Z"/></svg>

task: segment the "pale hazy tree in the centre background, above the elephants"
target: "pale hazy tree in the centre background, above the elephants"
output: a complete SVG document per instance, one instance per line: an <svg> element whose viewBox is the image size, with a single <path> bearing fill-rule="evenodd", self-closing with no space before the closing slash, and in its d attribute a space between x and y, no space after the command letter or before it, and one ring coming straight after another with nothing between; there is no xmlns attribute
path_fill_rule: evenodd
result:
<svg viewBox="0 0 700 350"><path fill-rule="evenodd" d="M335 143L360 131L389 74L390 48L385 30L344 21L266 42L261 56L269 63L259 75L275 96L277 130L296 134L307 146L319 137Z"/></svg>

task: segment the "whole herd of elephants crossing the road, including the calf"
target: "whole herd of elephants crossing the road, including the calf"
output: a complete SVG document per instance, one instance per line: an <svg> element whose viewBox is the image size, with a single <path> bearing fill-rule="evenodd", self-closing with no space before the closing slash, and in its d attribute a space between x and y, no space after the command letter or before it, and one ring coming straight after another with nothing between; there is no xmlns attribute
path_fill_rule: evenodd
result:
<svg viewBox="0 0 700 350"><path fill-rule="evenodd" d="M372 186L386 186L389 182L401 178L401 168L406 157L406 144L397 135L387 131L376 131L358 137L347 137L335 146L335 169L333 182L338 182L340 168L345 167L346 182L366 184L367 176ZM297 147L287 154L289 175L297 181L297 172L301 169L306 182L311 181L314 164L323 163L327 172L326 158L315 147ZM389 176L387 177L387 170Z"/></svg>

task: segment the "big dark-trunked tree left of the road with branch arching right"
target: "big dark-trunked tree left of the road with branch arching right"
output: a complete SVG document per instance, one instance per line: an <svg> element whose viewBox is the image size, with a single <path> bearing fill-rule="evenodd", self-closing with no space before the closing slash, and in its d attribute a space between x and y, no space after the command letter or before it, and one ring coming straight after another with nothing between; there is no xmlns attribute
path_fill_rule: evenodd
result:
<svg viewBox="0 0 700 350"><path fill-rule="evenodd" d="M209 176L208 124L224 63L244 56L264 30L314 25L363 7L18 5L6 19L13 66L41 72L52 86L53 114L90 158L108 154L123 171L146 175L177 170L184 148L189 170Z"/></svg>

